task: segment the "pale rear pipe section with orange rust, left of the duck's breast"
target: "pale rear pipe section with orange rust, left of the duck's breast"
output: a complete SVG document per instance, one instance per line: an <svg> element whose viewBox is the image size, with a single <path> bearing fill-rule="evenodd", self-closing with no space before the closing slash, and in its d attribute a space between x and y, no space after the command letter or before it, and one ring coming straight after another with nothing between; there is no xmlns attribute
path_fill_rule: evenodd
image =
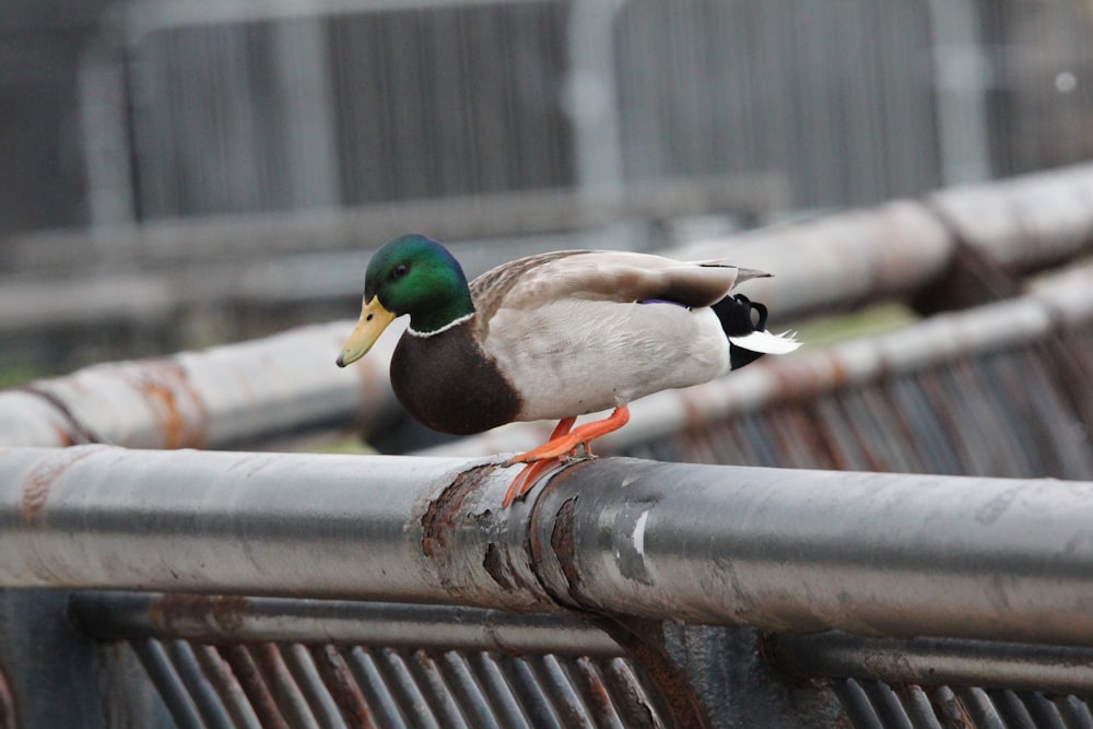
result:
<svg viewBox="0 0 1093 729"><path fill-rule="evenodd" d="M354 420L367 431L398 412L386 369L395 338L341 372L332 353L351 327L96 365L0 392L0 444L216 448Z"/></svg>

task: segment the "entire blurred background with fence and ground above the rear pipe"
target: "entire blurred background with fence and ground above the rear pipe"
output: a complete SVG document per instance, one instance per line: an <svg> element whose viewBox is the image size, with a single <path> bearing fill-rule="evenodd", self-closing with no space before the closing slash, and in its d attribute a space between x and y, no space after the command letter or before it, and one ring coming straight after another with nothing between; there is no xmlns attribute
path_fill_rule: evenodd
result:
<svg viewBox="0 0 1093 729"><path fill-rule="evenodd" d="M331 318L407 230L481 270L1093 156L1070 0L7 3L2 358L50 369Z"/></svg>

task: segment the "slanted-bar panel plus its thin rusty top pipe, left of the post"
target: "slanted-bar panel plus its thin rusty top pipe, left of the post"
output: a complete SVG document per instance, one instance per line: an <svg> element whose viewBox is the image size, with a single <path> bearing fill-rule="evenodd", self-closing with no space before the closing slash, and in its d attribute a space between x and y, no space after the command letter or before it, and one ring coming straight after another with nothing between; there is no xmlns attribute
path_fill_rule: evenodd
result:
<svg viewBox="0 0 1093 729"><path fill-rule="evenodd" d="M71 610L179 727L667 726L639 665L575 618L119 592Z"/></svg>

